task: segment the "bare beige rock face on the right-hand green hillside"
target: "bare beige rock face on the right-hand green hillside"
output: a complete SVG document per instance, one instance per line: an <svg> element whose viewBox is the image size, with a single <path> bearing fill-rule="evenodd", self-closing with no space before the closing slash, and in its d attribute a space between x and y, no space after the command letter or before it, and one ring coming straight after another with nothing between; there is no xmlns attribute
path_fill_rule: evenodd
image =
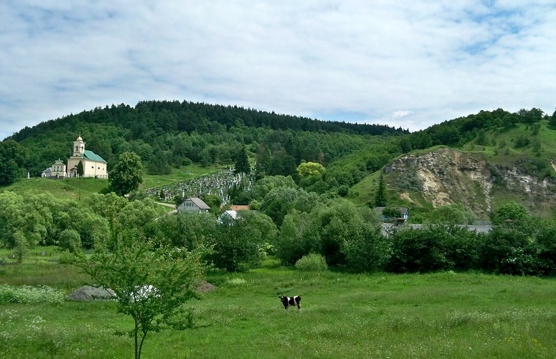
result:
<svg viewBox="0 0 556 359"><path fill-rule="evenodd" d="M385 172L398 178L416 176L423 198L434 207L462 203L479 216L488 216L491 212L496 186L513 194L523 194L527 198L526 205L533 209L552 208L556 203L553 179L526 175L517 166L489 165L480 153L441 148L420 156L408 154L386 166Z"/></svg>

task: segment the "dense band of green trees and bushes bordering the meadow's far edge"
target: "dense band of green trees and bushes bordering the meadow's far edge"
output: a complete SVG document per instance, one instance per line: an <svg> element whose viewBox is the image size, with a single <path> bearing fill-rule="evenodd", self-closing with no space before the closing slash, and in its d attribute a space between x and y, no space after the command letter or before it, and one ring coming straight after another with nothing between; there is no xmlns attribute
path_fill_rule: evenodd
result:
<svg viewBox="0 0 556 359"><path fill-rule="evenodd" d="M267 256L294 265L320 255L328 266L356 273L478 270L553 276L553 221L534 218L514 202L493 213L491 232L457 225L400 226L384 233L377 212L333 193L307 192L291 177L254 185L259 211L217 221L219 213L167 215L154 200L93 194L83 205L48 193L0 193L0 238L21 259L35 245L80 252L133 228L133 236L194 251L224 271L247 271Z"/></svg>

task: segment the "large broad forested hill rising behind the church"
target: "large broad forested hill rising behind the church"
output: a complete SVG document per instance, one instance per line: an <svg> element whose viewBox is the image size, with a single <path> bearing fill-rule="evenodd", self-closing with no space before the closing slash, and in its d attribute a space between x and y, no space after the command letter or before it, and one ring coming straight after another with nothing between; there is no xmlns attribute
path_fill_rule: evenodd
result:
<svg viewBox="0 0 556 359"><path fill-rule="evenodd" d="M70 156L78 135L88 150L108 161L109 168L126 151L139 154L153 174L170 173L172 167L192 162L229 165L245 145L250 157L267 167L264 173L295 176L301 161L326 166L346 154L368 150L377 141L384 142L383 138L408 133L386 125L311 120L238 106L146 101L135 107L97 107L49 120L25 127L8 140L25 148L26 163L19 166L31 176L40 175L56 159Z"/></svg>

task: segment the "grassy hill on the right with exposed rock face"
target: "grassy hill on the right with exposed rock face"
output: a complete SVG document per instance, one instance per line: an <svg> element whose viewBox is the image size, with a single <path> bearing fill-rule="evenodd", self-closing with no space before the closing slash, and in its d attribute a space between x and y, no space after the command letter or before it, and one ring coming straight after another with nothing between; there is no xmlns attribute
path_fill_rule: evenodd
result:
<svg viewBox="0 0 556 359"><path fill-rule="evenodd" d="M534 124L473 131L452 146L414 150L389 161L355 184L350 198L373 203L381 173L389 206L412 212L462 203L478 219L514 200L539 216L552 216L556 200L553 149L556 131L548 119Z"/></svg>

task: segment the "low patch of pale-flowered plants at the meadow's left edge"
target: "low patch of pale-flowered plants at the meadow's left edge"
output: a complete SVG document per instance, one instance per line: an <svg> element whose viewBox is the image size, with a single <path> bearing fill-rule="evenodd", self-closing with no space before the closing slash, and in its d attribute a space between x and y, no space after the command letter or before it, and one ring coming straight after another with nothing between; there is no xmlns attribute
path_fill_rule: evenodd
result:
<svg viewBox="0 0 556 359"><path fill-rule="evenodd" d="M47 285L42 287L0 285L0 304L62 303L64 296L63 291Z"/></svg>

